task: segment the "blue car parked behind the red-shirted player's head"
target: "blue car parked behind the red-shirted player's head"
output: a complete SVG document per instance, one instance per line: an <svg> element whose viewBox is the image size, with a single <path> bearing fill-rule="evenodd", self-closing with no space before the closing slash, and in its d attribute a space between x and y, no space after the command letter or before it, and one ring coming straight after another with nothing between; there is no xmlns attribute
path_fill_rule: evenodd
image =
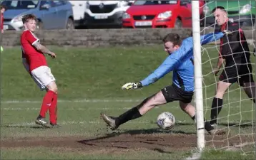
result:
<svg viewBox="0 0 256 160"><path fill-rule="evenodd" d="M21 31L22 16L34 14L39 29L73 29L72 4L69 1L2 1L7 7L4 12L4 29Z"/></svg>

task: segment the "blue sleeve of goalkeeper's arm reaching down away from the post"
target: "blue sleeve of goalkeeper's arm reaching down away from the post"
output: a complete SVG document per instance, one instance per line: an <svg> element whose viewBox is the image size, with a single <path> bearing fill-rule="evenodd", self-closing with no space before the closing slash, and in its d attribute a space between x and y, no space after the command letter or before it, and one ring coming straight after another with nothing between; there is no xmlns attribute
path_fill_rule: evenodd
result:
<svg viewBox="0 0 256 160"><path fill-rule="evenodd" d="M156 70L154 70L153 73L147 76L147 78L145 78L144 80L140 81L142 83L142 86L150 85L154 82L157 82L157 80L164 77L164 75L174 70L179 64L179 61L182 60L182 58L184 58L184 56L186 56L190 50L192 50L192 41L189 41L189 39L187 38L183 41L182 46L179 48L179 50L169 55L164 60L164 62L159 65Z"/></svg>

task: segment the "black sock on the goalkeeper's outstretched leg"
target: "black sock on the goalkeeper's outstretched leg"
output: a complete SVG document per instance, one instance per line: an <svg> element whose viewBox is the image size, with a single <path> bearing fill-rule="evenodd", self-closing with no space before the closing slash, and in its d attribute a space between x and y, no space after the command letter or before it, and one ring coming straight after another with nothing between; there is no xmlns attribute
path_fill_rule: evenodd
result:
<svg viewBox="0 0 256 160"><path fill-rule="evenodd" d="M116 125L119 126L121 124L124 124L125 122L137 119L139 117L142 117L142 115L139 113L139 110L137 107L133 107L132 109L128 110L127 112L124 112L116 119Z"/></svg>

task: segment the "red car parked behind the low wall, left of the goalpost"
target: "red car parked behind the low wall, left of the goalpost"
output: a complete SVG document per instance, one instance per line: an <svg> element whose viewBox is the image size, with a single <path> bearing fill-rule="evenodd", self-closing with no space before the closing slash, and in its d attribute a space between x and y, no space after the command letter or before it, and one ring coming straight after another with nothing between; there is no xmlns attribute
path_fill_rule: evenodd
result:
<svg viewBox="0 0 256 160"><path fill-rule="evenodd" d="M200 0L200 15L205 1ZM134 1L122 17L124 28L191 28L191 0Z"/></svg>

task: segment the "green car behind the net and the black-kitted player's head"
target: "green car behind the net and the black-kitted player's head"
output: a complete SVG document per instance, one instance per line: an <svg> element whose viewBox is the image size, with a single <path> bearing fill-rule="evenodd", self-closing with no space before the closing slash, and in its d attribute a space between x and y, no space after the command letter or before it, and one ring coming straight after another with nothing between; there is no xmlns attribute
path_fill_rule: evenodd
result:
<svg viewBox="0 0 256 160"><path fill-rule="evenodd" d="M240 23L242 26L253 26L255 23L256 9L254 1L205 1L204 13L206 26L215 24L212 9L223 6L227 10L230 21Z"/></svg>

